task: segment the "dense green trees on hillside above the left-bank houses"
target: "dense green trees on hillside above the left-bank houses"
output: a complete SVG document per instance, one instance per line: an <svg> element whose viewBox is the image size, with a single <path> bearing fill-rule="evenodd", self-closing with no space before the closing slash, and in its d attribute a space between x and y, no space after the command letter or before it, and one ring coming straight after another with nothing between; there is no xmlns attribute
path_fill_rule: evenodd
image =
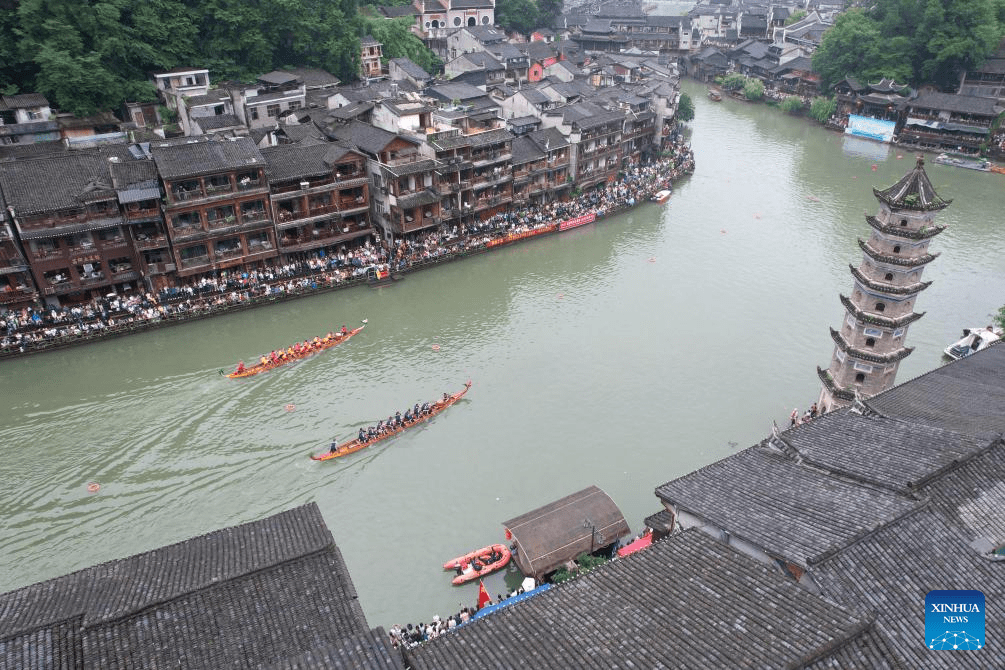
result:
<svg viewBox="0 0 1005 670"><path fill-rule="evenodd" d="M351 80L368 31L388 36L390 55L435 70L401 21L374 28L357 0L0 0L0 91L37 91L85 116L154 99L150 73L179 66L207 67L213 80L283 66Z"/></svg>

